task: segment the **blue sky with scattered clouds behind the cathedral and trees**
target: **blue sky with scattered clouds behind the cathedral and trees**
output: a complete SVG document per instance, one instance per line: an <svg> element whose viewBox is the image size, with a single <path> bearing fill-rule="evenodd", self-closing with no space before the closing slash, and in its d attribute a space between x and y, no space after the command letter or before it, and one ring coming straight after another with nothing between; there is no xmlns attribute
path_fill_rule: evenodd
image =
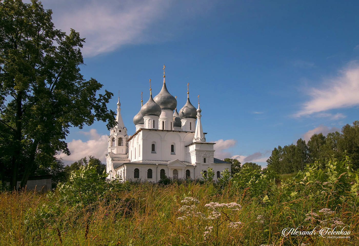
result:
<svg viewBox="0 0 359 246"><path fill-rule="evenodd" d="M278 145L340 130L358 119L358 1L43 1L53 22L86 38L85 78L114 93L108 104L131 135L132 118L162 85L178 108L200 94L215 156L266 165ZM71 163L104 160L106 123L71 129Z"/></svg>

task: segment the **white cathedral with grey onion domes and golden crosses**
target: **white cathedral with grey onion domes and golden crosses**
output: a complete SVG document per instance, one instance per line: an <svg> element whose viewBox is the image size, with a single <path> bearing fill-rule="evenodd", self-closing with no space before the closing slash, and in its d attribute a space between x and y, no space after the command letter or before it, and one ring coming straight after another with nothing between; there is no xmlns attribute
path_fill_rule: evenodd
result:
<svg viewBox="0 0 359 246"><path fill-rule="evenodd" d="M230 163L214 158L215 143L206 142L199 100L196 109L190 102L188 83L187 102L177 112L177 100L166 87L164 68L162 89L152 98L150 84L150 98L144 105L141 100L141 110L133 119L136 132L131 136L123 124L118 97L117 126L108 136L108 179L157 182L165 175L196 179L202 177L201 172L206 175L210 167L216 180L224 169L230 172Z"/></svg>

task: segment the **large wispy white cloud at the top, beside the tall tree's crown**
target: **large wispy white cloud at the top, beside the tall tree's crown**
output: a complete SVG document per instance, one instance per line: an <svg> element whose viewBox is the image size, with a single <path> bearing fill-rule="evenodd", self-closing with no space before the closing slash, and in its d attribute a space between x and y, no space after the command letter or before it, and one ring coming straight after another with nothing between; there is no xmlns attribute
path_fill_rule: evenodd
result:
<svg viewBox="0 0 359 246"><path fill-rule="evenodd" d="M175 23L207 14L206 10L213 6L202 0L194 4L166 0L42 2L45 9L53 10L56 28L66 32L73 28L86 38L82 49L85 57L110 52L128 44L164 42L180 31L179 28L173 28ZM176 14L173 14L174 11ZM167 25L160 23L168 18L171 20L167 21ZM171 27L176 33L169 31Z"/></svg>

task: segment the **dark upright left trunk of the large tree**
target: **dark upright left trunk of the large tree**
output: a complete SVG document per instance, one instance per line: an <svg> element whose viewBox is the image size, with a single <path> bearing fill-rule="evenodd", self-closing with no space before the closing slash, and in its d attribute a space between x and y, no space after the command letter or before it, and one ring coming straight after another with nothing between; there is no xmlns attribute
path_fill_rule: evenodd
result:
<svg viewBox="0 0 359 246"><path fill-rule="evenodd" d="M22 120L22 92L18 92L16 97L16 115L15 115L15 131L14 131L14 154L11 164L13 168L13 177L11 178L11 187L16 189L18 181L19 159L21 153L21 120Z"/></svg>

